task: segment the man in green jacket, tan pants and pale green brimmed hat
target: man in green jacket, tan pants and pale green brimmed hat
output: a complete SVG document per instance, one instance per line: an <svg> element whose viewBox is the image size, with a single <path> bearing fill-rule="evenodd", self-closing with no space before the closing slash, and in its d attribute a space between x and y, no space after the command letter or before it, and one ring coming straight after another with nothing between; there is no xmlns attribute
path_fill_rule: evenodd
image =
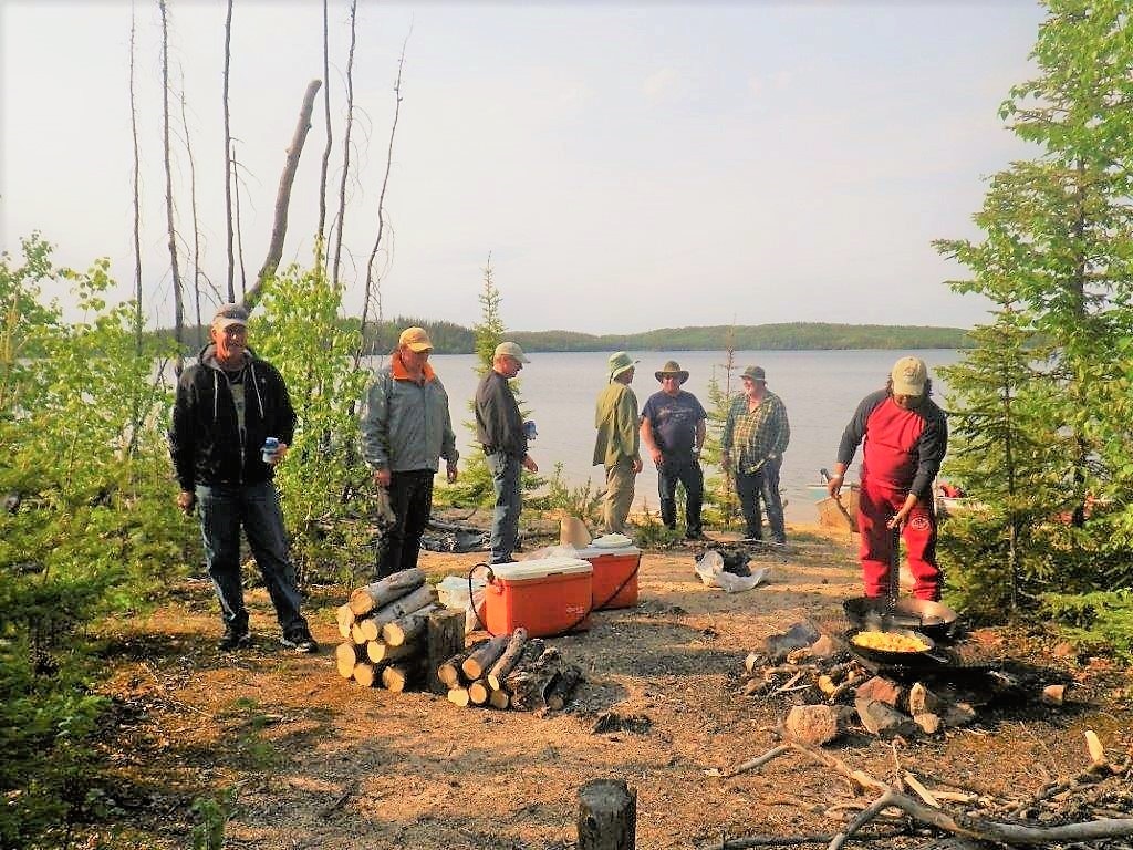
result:
<svg viewBox="0 0 1133 850"><path fill-rule="evenodd" d="M610 384L598 396L594 413L598 430L594 464L606 468L602 519L608 534L625 533L625 518L633 503L633 477L641 471L637 396L630 389L636 363L624 351L611 356Z"/></svg>

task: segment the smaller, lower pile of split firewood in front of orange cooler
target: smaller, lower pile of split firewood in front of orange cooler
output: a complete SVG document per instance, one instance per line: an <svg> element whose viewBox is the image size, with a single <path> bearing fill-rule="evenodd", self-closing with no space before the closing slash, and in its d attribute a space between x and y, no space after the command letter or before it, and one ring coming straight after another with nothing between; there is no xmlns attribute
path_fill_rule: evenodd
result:
<svg viewBox="0 0 1133 850"><path fill-rule="evenodd" d="M449 702L534 712L563 708L582 680L582 671L563 661L542 638L519 628L479 640L448 658L436 671Z"/></svg>

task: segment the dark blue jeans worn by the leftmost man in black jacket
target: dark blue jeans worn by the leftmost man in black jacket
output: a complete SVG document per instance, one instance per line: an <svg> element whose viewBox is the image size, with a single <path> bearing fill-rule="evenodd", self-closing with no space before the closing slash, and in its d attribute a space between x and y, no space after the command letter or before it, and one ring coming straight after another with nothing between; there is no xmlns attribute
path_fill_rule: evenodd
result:
<svg viewBox="0 0 1133 850"><path fill-rule="evenodd" d="M283 634L300 626L306 628L307 621L299 613L299 588L288 555L283 513L275 485L270 481L244 485L198 484L196 495L205 563L216 588L225 626L246 626L248 622L240 580L242 525Z"/></svg>

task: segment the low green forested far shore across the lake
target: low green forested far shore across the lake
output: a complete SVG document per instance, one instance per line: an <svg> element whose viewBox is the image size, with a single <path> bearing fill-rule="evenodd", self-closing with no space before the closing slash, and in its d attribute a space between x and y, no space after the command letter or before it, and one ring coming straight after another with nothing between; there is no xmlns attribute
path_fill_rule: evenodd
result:
<svg viewBox="0 0 1133 850"><path fill-rule="evenodd" d="M253 321L255 314L253 314ZM402 329L418 325L428 331L436 354L472 354L476 332L452 322L434 322L419 316L397 316L366 326L366 350L387 352L397 345ZM343 330L356 330L357 320L343 318ZM162 329L160 335L172 337ZM581 333L578 331L513 331L509 339L527 351L818 351L881 348L915 350L930 348L971 348L972 339L962 328L925 325L830 324L786 322L757 325L707 325L659 328L640 333ZM207 328L186 330L185 346L190 352L208 339Z"/></svg>

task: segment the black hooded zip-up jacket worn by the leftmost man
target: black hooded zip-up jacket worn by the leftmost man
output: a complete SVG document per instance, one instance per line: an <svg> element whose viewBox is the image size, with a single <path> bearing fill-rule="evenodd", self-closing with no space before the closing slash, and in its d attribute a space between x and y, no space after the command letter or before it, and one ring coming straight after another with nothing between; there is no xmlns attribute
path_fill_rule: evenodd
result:
<svg viewBox="0 0 1133 850"><path fill-rule="evenodd" d="M240 433L229 379L216 363L216 349L201 349L198 360L181 373L169 432L169 451L182 491L197 484L259 484L274 475L261 456L264 440L291 444L295 409L283 377L267 360L247 352L244 383L244 433Z"/></svg>

